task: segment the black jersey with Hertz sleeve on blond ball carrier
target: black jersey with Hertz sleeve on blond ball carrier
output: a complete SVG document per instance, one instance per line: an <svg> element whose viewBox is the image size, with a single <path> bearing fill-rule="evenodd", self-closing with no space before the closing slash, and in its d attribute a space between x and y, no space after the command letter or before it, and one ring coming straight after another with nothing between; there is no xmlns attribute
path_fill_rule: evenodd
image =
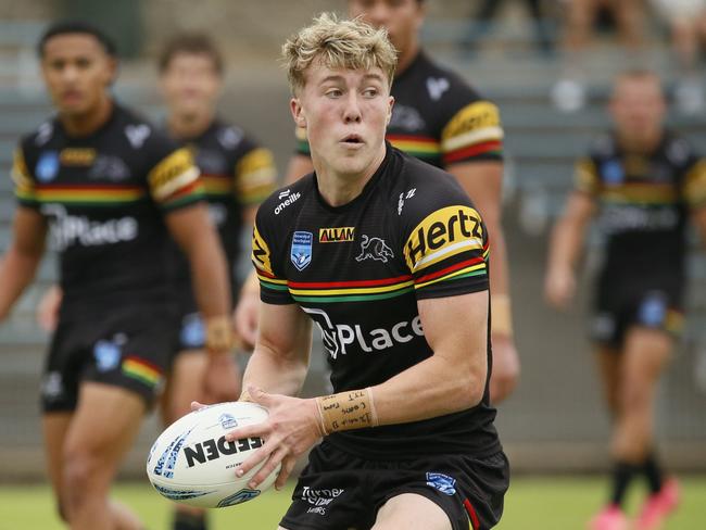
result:
<svg viewBox="0 0 706 530"><path fill-rule="evenodd" d="M262 300L297 303L316 323L336 392L381 383L432 354L417 300L489 286L488 237L467 195L390 146L343 206L323 200L314 174L274 193L257 212L252 257ZM490 376L490 342L487 354ZM491 454L500 443L487 390L471 409L328 439L368 458Z"/></svg>

